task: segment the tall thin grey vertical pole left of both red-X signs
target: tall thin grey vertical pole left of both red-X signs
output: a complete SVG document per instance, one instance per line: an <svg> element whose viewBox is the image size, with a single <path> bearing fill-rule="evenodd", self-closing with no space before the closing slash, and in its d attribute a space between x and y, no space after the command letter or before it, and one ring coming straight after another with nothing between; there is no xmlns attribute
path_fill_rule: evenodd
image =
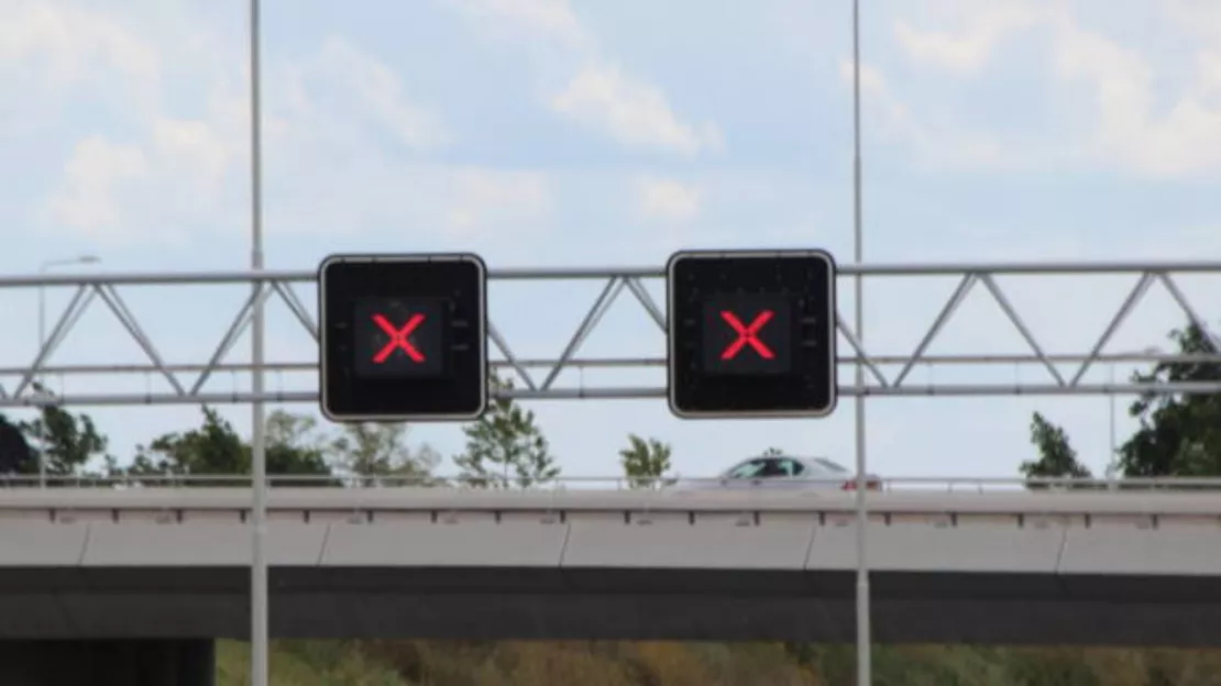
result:
<svg viewBox="0 0 1221 686"><path fill-rule="evenodd" d="M259 65L259 0L250 0L250 269L263 270L263 112ZM269 682L269 608L267 608L267 559L265 538L267 533L267 464L264 430L266 428L263 404L264 381L264 319L263 281L255 281L254 317L250 332L250 391L252 403L252 454L250 491L254 502L250 508L252 558L250 558L250 685L267 686Z"/></svg>

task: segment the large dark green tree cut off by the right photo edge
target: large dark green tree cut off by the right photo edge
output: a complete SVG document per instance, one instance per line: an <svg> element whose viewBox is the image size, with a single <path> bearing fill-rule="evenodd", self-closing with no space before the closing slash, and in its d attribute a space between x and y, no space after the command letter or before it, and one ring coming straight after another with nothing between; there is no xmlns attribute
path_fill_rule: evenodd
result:
<svg viewBox="0 0 1221 686"><path fill-rule="evenodd" d="M1217 341L1193 325L1171 332L1182 354L1221 354ZM1159 363L1140 383L1221 381L1221 361ZM1123 476L1221 475L1221 393L1176 395L1148 392L1128 410L1140 428L1120 447Z"/></svg>

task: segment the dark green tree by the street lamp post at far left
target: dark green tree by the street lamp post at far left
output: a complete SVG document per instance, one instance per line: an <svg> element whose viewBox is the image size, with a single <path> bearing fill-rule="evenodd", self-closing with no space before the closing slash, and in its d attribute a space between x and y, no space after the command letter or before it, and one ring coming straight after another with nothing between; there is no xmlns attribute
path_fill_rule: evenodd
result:
<svg viewBox="0 0 1221 686"><path fill-rule="evenodd" d="M34 391L45 393L37 383ZM106 454L106 436L87 414L74 415L59 405L43 405L37 417L17 426L34 453L34 459L22 469L27 474L38 474L39 455L46 460L48 476L82 476L88 474L89 463L100 460L103 464L98 466L104 469L112 460Z"/></svg>

